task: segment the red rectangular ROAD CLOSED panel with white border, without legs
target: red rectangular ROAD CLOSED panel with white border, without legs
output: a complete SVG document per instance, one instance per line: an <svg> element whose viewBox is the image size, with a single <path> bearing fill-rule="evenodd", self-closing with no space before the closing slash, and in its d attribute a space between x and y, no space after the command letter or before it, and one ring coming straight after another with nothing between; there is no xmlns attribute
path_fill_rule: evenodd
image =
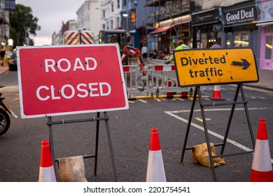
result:
<svg viewBox="0 0 273 196"><path fill-rule="evenodd" d="M128 109L118 46L18 47L22 118Z"/></svg>

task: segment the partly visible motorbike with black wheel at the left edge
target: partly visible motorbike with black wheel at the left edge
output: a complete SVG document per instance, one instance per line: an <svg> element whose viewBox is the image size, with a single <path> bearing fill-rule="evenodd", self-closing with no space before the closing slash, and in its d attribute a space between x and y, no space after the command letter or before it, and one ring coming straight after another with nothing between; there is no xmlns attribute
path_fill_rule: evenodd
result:
<svg viewBox="0 0 273 196"><path fill-rule="evenodd" d="M0 85L0 88L5 86L6 85ZM10 116L8 116L8 113L15 118L18 118L18 116L10 109L8 104L3 102L3 99L6 98L2 97L2 93L0 92L0 106L2 106L2 108L0 108L0 136L5 134L10 127Z"/></svg>

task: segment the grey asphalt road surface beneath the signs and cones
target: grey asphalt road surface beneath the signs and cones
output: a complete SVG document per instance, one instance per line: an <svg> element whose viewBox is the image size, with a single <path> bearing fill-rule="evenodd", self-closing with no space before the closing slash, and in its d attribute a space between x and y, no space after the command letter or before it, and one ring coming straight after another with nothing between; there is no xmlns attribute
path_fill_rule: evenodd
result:
<svg viewBox="0 0 273 196"><path fill-rule="evenodd" d="M1 76L1 83L7 86L1 90L3 97L19 118L12 116L10 130L0 137L0 181L35 182L38 181L41 141L48 139L47 118L20 118L20 103L17 72L12 71ZM222 97L232 100L235 85L221 86ZM260 118L267 121L270 153L273 155L273 92L245 89L251 127L256 136ZM209 101L212 88L202 91ZM241 97L239 96L239 99ZM188 125L191 99L137 99L130 102L128 110L110 111L109 128L115 158L117 179L120 182L144 182L148 162L151 128L157 127L160 136L162 158L167 181L171 182L211 182L212 172L209 167L195 164L191 151L186 151L181 163L181 149ZM199 102L195 105L188 146L202 144L204 137L202 115ZM231 106L209 107L206 111L210 141L221 142ZM73 120L93 118L97 114L58 116L52 120ZM101 114L102 116L102 114ZM77 155L94 154L96 123L72 123L52 127L55 158L67 158ZM253 149L248 131L244 106L236 107L232 118L228 143L225 153L237 153ZM220 148L216 147L219 153ZM246 182L251 174L252 154L236 155L224 158L226 164L215 168L217 181ZM109 143L104 122L99 126L99 159L97 175L94 176L94 158L85 159L87 181L113 181ZM59 181L59 175L57 175Z"/></svg>

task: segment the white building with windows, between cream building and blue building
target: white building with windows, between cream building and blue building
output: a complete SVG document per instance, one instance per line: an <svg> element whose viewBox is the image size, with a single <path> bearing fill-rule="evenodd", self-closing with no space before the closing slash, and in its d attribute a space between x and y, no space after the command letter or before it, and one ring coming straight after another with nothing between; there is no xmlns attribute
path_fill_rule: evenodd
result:
<svg viewBox="0 0 273 196"><path fill-rule="evenodd" d="M122 0L102 0L100 8L102 13L101 29L117 29L120 27Z"/></svg>

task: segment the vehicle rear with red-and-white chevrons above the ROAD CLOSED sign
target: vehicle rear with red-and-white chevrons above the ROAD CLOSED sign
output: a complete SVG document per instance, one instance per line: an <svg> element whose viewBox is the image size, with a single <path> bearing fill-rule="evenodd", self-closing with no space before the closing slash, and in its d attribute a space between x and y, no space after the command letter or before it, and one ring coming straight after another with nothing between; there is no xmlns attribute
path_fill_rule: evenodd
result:
<svg viewBox="0 0 273 196"><path fill-rule="evenodd" d="M64 32L62 44L93 44L94 34L88 30L69 30Z"/></svg>

